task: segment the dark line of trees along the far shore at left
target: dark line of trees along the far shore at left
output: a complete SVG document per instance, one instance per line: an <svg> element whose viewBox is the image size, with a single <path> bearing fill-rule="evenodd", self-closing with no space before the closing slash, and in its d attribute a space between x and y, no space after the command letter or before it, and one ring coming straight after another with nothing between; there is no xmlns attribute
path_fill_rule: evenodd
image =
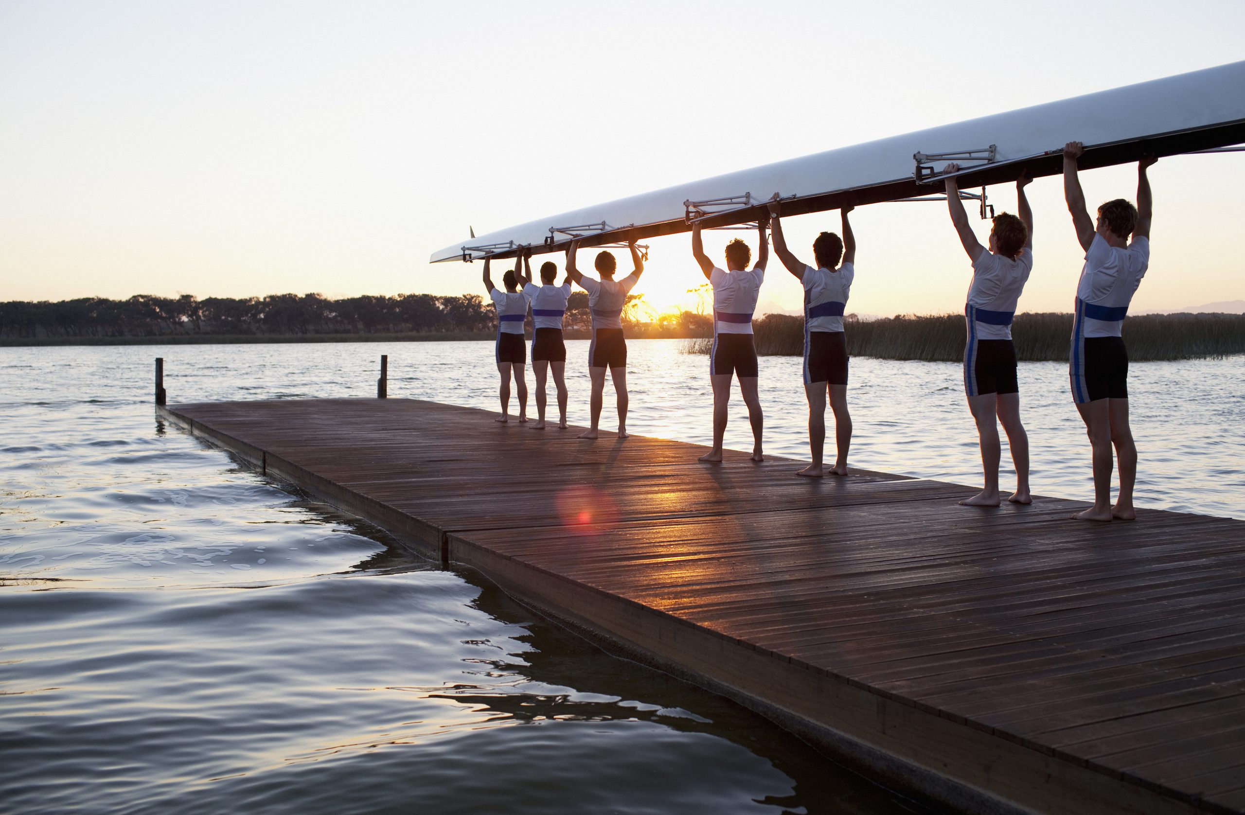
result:
<svg viewBox="0 0 1245 815"><path fill-rule="evenodd" d="M624 320L635 317L641 296L630 295ZM588 294L571 294L565 326L571 336L590 331ZM530 321L530 317L529 317ZM712 331L703 315L664 317L654 336L697 336ZM701 325L701 324L705 325ZM493 331L493 304L479 295L364 295L331 300L320 294L266 297L78 297L59 302L0 302L0 337L159 337L476 333Z"/></svg>

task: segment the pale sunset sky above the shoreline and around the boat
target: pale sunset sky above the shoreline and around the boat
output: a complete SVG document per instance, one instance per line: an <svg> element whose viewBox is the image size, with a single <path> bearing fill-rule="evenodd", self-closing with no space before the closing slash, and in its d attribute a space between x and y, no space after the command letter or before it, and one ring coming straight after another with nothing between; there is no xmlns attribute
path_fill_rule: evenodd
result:
<svg viewBox="0 0 1245 815"><path fill-rule="evenodd" d="M427 263L468 226L1245 58L1239 0L1096 7L0 1L0 300L482 294L479 264ZM1134 310L1245 299L1245 153L1150 178ZM1133 167L1082 179L1092 205L1135 195ZM990 195L1015 209L1010 185ZM1020 306L1067 311L1081 250L1059 179L1030 198ZM945 204L853 220L850 311L962 309ZM838 213L786 226L810 259ZM690 302L687 235L650 243L637 291ZM797 311L771 271L758 311Z"/></svg>

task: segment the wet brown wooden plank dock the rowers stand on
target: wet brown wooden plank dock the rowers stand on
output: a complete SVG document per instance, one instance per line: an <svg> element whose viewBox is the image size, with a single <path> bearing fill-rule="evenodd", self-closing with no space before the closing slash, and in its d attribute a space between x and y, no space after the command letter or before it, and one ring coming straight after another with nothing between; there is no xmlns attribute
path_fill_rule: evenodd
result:
<svg viewBox="0 0 1245 815"><path fill-rule="evenodd" d="M964 811L1245 811L1245 523L967 509L967 487L706 465L432 402L157 409L894 786Z"/></svg>

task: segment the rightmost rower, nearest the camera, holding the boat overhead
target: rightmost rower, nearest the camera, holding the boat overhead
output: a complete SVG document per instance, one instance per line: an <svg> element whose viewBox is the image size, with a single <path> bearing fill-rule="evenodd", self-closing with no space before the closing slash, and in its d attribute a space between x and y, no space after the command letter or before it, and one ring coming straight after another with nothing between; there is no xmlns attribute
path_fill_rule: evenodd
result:
<svg viewBox="0 0 1245 815"><path fill-rule="evenodd" d="M1063 147L1063 195L1072 214L1086 264L1077 282L1076 316L1068 376L1072 399L1081 412L1093 449L1093 506L1076 513L1077 520L1133 520L1137 445L1128 426L1128 350L1122 328L1133 294L1150 263L1153 197L1145 169L1158 161L1147 156L1137 164L1137 207L1123 198L1098 208L1094 224L1077 177L1081 142ZM1132 240L1129 240L1132 235ZM1119 495L1111 504L1112 447L1119 460Z"/></svg>

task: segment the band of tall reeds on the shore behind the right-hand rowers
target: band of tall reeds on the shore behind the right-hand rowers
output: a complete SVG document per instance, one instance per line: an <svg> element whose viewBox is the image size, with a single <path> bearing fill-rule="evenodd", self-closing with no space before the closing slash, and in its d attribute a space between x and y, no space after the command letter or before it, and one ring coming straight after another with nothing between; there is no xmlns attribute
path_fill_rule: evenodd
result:
<svg viewBox="0 0 1245 815"><path fill-rule="evenodd" d="M753 325L757 353L802 356L804 319L769 314ZM964 358L964 315L850 320L844 325L850 356L957 362ZM1071 314L1018 314L1012 324L1016 356L1046 362L1068 358ZM1245 353L1245 315L1140 315L1124 322L1128 356L1135 362L1191 360ZM712 340L688 340L688 353L708 353Z"/></svg>

